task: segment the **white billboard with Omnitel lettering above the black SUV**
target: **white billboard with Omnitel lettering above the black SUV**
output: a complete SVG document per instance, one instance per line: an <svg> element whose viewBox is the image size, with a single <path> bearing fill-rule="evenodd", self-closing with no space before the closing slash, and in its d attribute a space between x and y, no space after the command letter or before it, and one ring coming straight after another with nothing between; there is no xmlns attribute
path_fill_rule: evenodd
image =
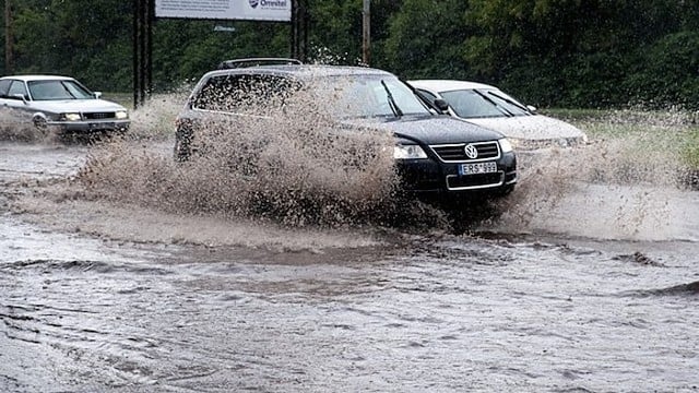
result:
<svg viewBox="0 0 699 393"><path fill-rule="evenodd" d="M292 20L292 0L155 0L156 17Z"/></svg>

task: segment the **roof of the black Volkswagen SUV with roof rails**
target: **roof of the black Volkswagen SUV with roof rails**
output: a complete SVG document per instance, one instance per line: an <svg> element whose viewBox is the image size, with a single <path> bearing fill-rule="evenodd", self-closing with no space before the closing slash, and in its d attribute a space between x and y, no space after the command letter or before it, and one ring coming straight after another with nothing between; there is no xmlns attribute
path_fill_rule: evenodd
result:
<svg viewBox="0 0 699 393"><path fill-rule="evenodd" d="M273 64L273 66L253 66L225 70L210 71L206 76L218 76L229 74L276 74L286 76L297 76L303 79L318 76L350 76L350 75L386 75L394 76L392 73L383 70L372 69L368 67L353 66L327 66L327 64Z"/></svg>

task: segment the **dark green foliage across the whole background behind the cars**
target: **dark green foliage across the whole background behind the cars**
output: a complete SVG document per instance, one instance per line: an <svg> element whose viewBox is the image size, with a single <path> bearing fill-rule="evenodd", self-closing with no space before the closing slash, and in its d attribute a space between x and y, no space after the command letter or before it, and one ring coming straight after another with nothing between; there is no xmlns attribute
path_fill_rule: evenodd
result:
<svg viewBox="0 0 699 393"><path fill-rule="evenodd" d="M69 74L95 90L131 90L132 1L5 1L14 67L0 64L3 73ZM308 59L360 63L363 1L303 2ZM291 26L157 20L153 44L157 92L191 83L224 59L287 57ZM699 2L374 0L369 62L405 79L497 84L541 107L699 108Z"/></svg>

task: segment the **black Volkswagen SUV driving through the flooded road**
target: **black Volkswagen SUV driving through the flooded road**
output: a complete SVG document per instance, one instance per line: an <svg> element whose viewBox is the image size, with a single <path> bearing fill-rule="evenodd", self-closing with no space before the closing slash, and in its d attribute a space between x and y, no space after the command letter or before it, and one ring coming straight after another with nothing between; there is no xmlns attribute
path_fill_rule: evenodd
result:
<svg viewBox="0 0 699 393"><path fill-rule="evenodd" d="M336 129L392 133L401 189L410 194L449 201L503 195L514 188L517 159L502 134L440 114L387 71L293 59L228 60L204 74L177 119L176 158L187 160L202 150L198 134L214 119L283 114L289 110L284 99L297 92L315 97L301 110L322 107ZM265 104L273 94L282 96L282 105Z"/></svg>

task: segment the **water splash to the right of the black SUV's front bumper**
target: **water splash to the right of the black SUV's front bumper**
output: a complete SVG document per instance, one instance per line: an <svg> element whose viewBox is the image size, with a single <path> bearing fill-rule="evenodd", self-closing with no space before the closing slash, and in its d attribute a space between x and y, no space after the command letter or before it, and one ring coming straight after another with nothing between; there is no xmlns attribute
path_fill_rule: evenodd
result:
<svg viewBox="0 0 699 393"><path fill-rule="evenodd" d="M604 239L697 238L682 154L689 115L616 111L581 122L591 143L520 156L520 182L498 223L506 231Z"/></svg>

